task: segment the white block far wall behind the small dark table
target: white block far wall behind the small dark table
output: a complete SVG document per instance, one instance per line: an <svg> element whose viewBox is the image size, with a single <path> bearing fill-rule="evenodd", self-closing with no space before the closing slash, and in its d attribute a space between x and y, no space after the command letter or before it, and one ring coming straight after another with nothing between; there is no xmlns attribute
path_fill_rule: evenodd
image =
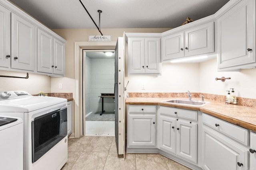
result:
<svg viewBox="0 0 256 170"><path fill-rule="evenodd" d="M102 110L101 93L114 93L114 59L91 59L90 111ZM114 99L104 98L104 110L114 111Z"/></svg>

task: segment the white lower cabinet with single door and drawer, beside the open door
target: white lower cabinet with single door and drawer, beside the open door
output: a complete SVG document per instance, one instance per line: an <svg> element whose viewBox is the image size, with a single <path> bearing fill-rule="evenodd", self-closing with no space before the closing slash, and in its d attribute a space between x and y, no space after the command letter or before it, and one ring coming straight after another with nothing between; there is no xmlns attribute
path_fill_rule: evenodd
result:
<svg viewBox="0 0 256 170"><path fill-rule="evenodd" d="M128 147L156 147L156 112L152 109L156 106L128 106Z"/></svg>

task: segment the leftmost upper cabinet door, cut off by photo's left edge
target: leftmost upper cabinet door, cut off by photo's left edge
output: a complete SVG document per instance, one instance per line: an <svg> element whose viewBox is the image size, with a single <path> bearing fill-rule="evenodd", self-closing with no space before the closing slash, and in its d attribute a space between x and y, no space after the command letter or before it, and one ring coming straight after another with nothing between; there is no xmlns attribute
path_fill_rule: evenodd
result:
<svg viewBox="0 0 256 170"><path fill-rule="evenodd" d="M0 6L0 66L5 68L10 68L10 25L10 11Z"/></svg>

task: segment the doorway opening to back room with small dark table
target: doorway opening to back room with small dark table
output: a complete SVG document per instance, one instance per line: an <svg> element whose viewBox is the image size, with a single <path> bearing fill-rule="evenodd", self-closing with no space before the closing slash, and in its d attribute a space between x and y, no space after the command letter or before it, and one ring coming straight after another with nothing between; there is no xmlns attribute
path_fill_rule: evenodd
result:
<svg viewBox="0 0 256 170"><path fill-rule="evenodd" d="M83 50L83 55L84 134L115 136L114 50Z"/></svg>

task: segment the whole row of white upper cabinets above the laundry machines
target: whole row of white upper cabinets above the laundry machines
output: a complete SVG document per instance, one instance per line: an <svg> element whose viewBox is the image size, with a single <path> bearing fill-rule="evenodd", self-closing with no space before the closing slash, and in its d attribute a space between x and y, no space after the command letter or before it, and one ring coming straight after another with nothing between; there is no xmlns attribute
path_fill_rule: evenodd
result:
<svg viewBox="0 0 256 170"><path fill-rule="evenodd" d="M0 70L65 76L66 40L0 1Z"/></svg>

